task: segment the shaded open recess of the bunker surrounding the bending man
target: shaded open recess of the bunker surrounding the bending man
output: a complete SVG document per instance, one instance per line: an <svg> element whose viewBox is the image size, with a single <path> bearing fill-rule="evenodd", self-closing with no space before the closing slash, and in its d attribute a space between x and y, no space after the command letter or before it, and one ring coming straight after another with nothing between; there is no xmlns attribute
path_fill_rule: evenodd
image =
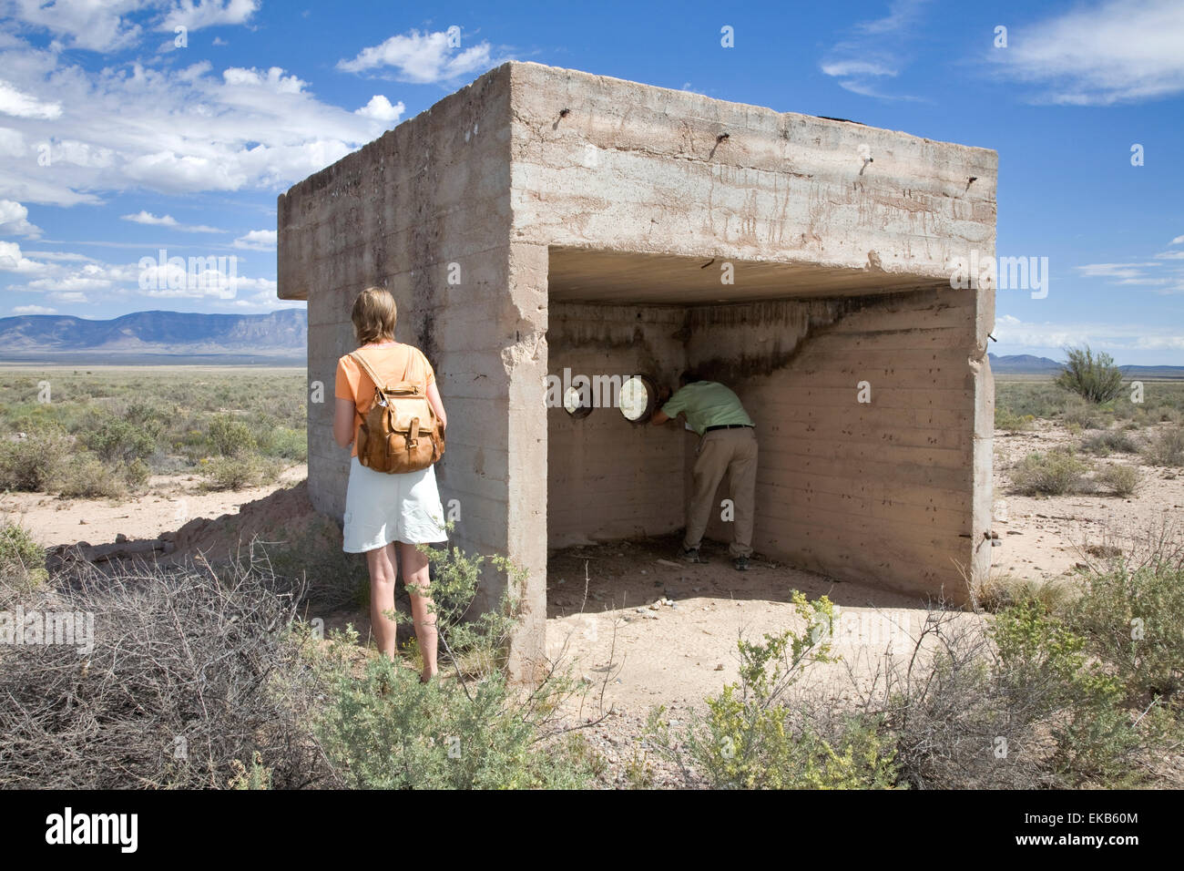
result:
<svg viewBox="0 0 1184 871"><path fill-rule="evenodd" d="M579 401L547 402L548 559L681 543L700 438L682 418L649 422L690 373L732 389L754 423L758 555L952 588L950 555L972 534L973 305L932 276L551 246L548 397ZM704 552L726 570L727 474L712 505Z"/></svg>

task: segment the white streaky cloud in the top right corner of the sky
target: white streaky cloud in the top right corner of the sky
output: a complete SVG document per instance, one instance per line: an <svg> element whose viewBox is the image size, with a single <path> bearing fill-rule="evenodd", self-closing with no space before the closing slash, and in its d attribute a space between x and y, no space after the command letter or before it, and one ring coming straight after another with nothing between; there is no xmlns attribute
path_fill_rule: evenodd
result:
<svg viewBox="0 0 1184 871"><path fill-rule="evenodd" d="M1184 4L1109 0L1015 26L987 58L1034 102L1109 105L1184 92Z"/></svg>

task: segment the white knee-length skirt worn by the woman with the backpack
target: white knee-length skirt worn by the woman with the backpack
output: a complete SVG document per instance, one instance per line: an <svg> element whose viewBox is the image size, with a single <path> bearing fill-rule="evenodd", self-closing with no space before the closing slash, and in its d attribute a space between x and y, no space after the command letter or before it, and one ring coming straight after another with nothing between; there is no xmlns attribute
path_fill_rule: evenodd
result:
<svg viewBox="0 0 1184 871"><path fill-rule="evenodd" d="M342 550L363 553L391 542L446 542L444 507L436 489L436 469L387 474L349 461Z"/></svg>

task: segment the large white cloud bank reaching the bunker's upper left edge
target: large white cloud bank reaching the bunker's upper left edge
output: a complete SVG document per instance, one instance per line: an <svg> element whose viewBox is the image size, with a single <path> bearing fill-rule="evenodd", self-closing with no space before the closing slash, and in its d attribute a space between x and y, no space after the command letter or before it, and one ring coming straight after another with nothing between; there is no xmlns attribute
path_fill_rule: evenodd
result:
<svg viewBox="0 0 1184 871"><path fill-rule="evenodd" d="M0 128L0 152L24 158L0 160L2 198L75 205L134 187L275 190L377 139L404 110L385 98L363 113L322 103L307 82L277 66L133 63L92 72L60 60L27 46L0 50L0 69L14 88L62 107L58 122L20 117ZM39 165L43 153L52 173Z"/></svg>

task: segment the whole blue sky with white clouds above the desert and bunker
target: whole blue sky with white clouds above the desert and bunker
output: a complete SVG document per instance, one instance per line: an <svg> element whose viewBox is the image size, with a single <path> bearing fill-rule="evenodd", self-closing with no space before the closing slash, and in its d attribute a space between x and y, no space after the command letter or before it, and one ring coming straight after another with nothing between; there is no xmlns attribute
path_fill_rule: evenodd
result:
<svg viewBox="0 0 1184 871"><path fill-rule="evenodd" d="M991 350L1184 365L1180 0L0 0L0 316L290 305L276 196L511 58L995 148L997 254L1049 281Z"/></svg>

